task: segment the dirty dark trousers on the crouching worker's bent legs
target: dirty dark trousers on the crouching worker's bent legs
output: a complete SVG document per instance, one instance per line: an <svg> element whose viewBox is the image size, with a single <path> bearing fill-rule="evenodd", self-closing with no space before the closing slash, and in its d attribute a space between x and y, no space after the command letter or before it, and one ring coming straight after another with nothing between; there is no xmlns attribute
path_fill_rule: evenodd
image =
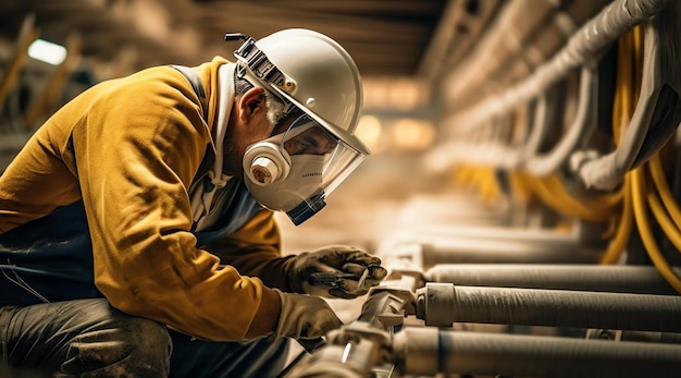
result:
<svg viewBox="0 0 681 378"><path fill-rule="evenodd" d="M191 340L104 298L0 308L0 378L275 377L286 339Z"/></svg>

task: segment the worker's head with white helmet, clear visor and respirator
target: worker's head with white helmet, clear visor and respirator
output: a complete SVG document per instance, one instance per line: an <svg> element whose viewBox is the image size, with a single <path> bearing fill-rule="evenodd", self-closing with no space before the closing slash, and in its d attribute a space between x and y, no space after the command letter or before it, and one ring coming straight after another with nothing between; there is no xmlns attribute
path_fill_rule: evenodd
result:
<svg viewBox="0 0 681 378"><path fill-rule="evenodd" d="M336 41L308 29L247 38L235 56L237 82L253 85L244 96L262 95L270 124L244 153L244 181L260 204L299 224L369 155L355 135L359 70Z"/></svg>

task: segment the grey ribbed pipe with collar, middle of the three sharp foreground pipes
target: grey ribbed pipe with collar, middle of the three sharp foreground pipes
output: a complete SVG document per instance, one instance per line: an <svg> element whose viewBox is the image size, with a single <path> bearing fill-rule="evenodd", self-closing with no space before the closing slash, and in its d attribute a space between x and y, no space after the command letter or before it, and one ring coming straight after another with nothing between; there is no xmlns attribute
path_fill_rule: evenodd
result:
<svg viewBox="0 0 681 378"><path fill-rule="evenodd" d="M428 326L483 322L679 332L681 296L430 282L417 290L417 317Z"/></svg>

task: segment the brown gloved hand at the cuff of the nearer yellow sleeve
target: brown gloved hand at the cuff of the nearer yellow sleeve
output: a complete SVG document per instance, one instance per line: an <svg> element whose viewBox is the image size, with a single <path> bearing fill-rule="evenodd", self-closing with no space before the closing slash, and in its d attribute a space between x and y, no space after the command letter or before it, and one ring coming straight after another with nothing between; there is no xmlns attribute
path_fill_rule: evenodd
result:
<svg viewBox="0 0 681 378"><path fill-rule="evenodd" d="M274 331L278 337L317 339L343 326L329 304L317 296L283 293L280 295L282 310Z"/></svg>

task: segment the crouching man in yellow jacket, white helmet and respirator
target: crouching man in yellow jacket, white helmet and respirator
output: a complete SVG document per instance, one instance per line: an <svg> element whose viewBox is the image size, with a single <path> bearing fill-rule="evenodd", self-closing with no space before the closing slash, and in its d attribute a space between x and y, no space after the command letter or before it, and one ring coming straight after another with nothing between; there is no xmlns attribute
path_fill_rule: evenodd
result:
<svg viewBox="0 0 681 378"><path fill-rule="evenodd" d="M236 37L236 63L86 90L0 176L0 371L273 376L284 338L342 326L318 295L386 276L349 246L282 257L273 218L314 215L369 154L357 66L312 31Z"/></svg>

